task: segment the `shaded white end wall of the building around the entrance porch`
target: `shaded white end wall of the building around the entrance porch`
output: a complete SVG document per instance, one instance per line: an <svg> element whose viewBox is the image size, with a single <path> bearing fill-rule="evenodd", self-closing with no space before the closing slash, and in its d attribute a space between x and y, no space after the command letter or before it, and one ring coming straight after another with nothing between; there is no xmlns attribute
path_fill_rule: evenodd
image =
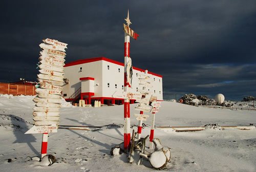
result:
<svg viewBox="0 0 256 172"><path fill-rule="evenodd" d="M82 70L80 70L82 68ZM68 66L64 69L65 78L69 79L69 84L63 86L63 94L67 94L64 98L69 98L75 91L81 87L80 78L93 77L94 78L94 92L95 97L102 95L102 60L93 61L90 63L83 63L74 66ZM98 85L96 85L98 83Z"/></svg>

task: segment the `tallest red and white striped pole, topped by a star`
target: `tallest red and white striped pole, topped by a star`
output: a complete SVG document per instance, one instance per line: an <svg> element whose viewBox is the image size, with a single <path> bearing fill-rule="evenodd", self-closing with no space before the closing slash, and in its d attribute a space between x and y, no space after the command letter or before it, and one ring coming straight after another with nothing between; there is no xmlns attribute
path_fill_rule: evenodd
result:
<svg viewBox="0 0 256 172"><path fill-rule="evenodd" d="M127 19L129 20L129 12L128 12ZM127 24L129 27L129 23ZM130 36L124 33L124 92L126 92L128 88L131 87L130 83L127 82L127 77L126 77L127 62L131 61L131 59L129 58L131 58L130 57ZM130 126L131 126L130 99L124 99L124 133L123 133L124 150L127 150L130 145L130 140L131 140Z"/></svg>

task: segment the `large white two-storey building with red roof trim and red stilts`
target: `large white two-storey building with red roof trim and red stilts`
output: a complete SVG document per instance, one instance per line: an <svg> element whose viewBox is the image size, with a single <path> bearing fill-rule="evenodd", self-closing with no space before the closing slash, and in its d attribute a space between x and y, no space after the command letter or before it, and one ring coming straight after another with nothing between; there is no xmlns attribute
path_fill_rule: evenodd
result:
<svg viewBox="0 0 256 172"><path fill-rule="evenodd" d="M68 83L63 86L63 97L67 101L86 100L87 104L95 100L104 104L123 104L123 99L112 97L116 91L123 90L124 65L122 62L105 57L82 59L67 63L65 78ZM145 70L133 67L132 89L139 86L138 74ZM148 71L152 75L153 88L150 91L158 100L163 100L162 76ZM134 100L131 100L134 103Z"/></svg>

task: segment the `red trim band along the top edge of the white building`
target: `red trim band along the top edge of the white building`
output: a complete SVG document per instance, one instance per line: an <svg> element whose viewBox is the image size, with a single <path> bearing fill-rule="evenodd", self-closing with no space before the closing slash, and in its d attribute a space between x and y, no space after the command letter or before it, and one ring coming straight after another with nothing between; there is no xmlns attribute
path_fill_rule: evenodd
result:
<svg viewBox="0 0 256 172"><path fill-rule="evenodd" d="M75 66L75 65L80 65L80 64L83 64L83 63L89 63L89 62L100 61L100 60L104 60L104 61L114 63L116 65L124 66L122 62L119 62L119 61L116 61L116 60L112 60L112 59L109 59L109 58L106 58L106 57L94 57L94 58L87 58L87 59L82 59L82 60L76 60L76 61L73 61L73 62L69 62L64 67ZM140 72L145 72L145 70L137 68L137 67L133 67L133 69L135 69L137 71L140 71ZM153 73L153 72L150 72L150 71L148 71L147 73L151 74L151 75L158 76L160 78L163 77L162 75L159 75L159 74L156 74L156 73Z"/></svg>

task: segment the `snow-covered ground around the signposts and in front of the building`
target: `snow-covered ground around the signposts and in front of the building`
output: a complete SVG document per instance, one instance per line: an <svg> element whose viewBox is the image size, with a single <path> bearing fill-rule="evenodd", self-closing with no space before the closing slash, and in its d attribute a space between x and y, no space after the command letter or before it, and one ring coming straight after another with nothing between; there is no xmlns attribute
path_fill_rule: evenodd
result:
<svg viewBox="0 0 256 172"><path fill-rule="evenodd" d="M123 140L123 106L74 107L63 102L61 125L103 126L98 131L59 129L49 134L52 166L40 166L31 157L40 155L41 134L24 133L32 127L33 96L0 95L0 171L154 171L147 165L127 163L124 154L110 156ZM131 105L131 124L137 124ZM156 126L256 124L256 111L214 109L163 101ZM151 123L151 118L145 121ZM137 130L136 127L134 127ZM142 135L150 134L145 127ZM172 148L172 159L163 171L256 171L256 130L208 129L178 133L155 130L155 137ZM8 162L11 159L11 162Z"/></svg>

